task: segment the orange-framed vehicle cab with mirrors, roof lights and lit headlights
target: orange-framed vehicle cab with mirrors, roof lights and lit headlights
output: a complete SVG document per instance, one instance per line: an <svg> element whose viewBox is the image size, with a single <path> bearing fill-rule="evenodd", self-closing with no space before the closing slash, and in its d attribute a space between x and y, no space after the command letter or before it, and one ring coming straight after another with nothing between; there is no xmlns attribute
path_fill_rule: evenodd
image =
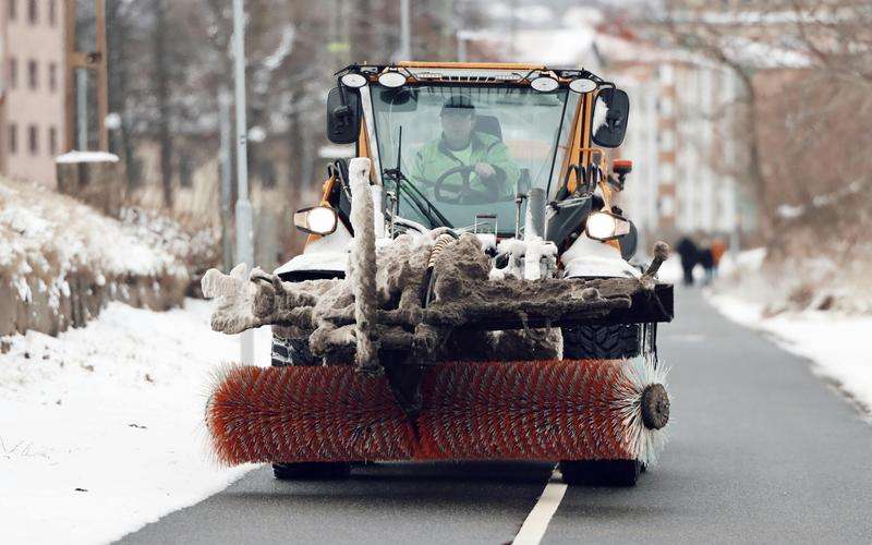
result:
<svg viewBox="0 0 872 545"><path fill-rule="evenodd" d="M606 154L628 113L627 94L584 69L352 64L328 95L327 133L372 161L377 237L447 228L492 246L537 237L557 247L564 277L633 277L635 229L611 204L631 164ZM310 238L279 276L344 275L350 198L339 160L319 205L295 214ZM544 207L541 221L530 203Z"/></svg>

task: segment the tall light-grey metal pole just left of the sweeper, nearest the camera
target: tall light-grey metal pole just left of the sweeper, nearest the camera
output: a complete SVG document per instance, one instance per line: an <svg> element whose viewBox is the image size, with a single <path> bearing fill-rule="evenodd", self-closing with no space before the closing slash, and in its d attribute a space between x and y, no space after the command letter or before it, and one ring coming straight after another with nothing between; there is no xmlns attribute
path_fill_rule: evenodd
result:
<svg viewBox="0 0 872 545"><path fill-rule="evenodd" d="M245 121L245 10L243 0L233 0L233 71L237 98L237 261L254 265L252 240L252 204L249 202L247 122ZM254 331L244 331L240 342L240 360L244 365L254 363Z"/></svg>

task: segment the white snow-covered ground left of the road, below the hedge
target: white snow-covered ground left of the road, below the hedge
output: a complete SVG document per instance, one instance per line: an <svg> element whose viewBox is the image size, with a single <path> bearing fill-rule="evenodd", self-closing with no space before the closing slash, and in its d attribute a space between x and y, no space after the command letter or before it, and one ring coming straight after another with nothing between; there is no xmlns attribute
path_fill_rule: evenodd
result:
<svg viewBox="0 0 872 545"><path fill-rule="evenodd" d="M58 338L0 338L0 541L108 542L251 469L218 467L206 446L210 375L239 354L209 312L110 303ZM268 328L256 347L268 365Z"/></svg>

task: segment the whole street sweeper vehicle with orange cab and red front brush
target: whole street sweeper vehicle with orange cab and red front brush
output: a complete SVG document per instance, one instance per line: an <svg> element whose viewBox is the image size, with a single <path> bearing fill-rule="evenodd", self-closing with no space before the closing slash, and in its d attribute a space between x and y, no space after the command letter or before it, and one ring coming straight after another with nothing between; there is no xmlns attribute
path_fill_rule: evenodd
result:
<svg viewBox="0 0 872 545"><path fill-rule="evenodd" d="M209 270L213 328L270 325L272 365L227 368L206 425L217 458L278 479L378 460L559 462L569 484L634 485L669 420L657 324L673 288L631 265L637 231L609 161L629 99L583 70L348 66L328 168L267 274Z"/></svg>

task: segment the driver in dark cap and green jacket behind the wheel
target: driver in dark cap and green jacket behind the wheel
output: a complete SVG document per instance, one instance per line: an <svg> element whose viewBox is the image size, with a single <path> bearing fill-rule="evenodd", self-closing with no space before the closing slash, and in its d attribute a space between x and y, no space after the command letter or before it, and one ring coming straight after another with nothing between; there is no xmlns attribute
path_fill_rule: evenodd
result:
<svg viewBox="0 0 872 545"><path fill-rule="evenodd" d="M467 95L453 95L443 105L443 134L417 153L412 179L432 186L438 178L457 167L470 167L470 190L495 202L512 195L521 170L509 157L509 148L498 137L475 131L475 106ZM447 192L460 191L462 177L446 180Z"/></svg>

